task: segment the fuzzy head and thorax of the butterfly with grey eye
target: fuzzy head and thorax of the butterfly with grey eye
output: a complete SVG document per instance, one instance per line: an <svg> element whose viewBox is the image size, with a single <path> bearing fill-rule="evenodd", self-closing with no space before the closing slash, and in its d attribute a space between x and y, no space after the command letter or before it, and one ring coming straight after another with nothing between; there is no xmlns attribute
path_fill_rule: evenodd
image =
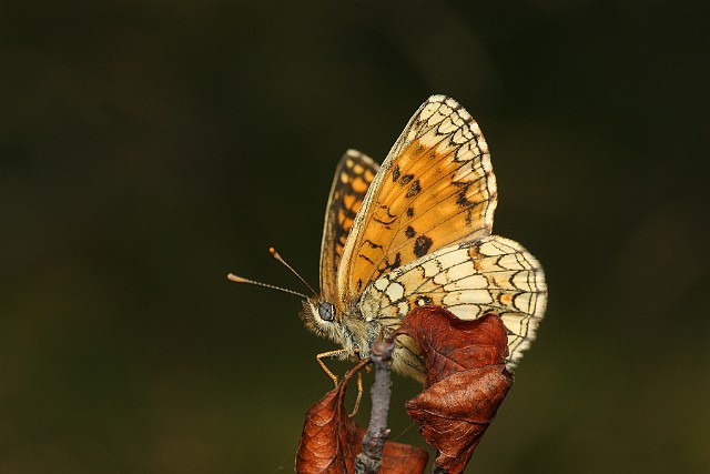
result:
<svg viewBox="0 0 710 474"><path fill-rule="evenodd" d="M301 319L314 333L341 344L351 356L366 357L377 339L372 324L366 324L356 307L343 312L323 296L313 296L303 304Z"/></svg>

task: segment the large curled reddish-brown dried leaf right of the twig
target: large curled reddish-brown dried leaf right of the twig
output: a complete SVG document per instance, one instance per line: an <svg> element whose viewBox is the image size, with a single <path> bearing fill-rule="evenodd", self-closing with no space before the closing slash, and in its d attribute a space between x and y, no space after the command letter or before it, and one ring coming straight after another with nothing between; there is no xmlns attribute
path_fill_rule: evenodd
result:
<svg viewBox="0 0 710 474"><path fill-rule="evenodd" d="M464 321L442 307L420 306L397 333L419 343L427 365L424 391L407 402L407 413L439 451L437 464L459 473L513 385L504 362L505 325L493 313Z"/></svg>

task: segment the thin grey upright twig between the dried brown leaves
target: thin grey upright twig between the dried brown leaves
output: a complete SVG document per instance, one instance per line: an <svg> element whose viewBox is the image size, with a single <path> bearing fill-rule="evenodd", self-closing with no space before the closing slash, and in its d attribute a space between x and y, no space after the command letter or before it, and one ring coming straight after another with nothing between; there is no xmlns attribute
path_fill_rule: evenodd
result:
<svg viewBox="0 0 710 474"><path fill-rule="evenodd" d="M375 364L375 382L371 389L373 409L369 425L363 436L363 452L355 457L355 474L376 474L382 465L382 453L389 436L387 412L392 395L392 352L394 341L377 341L371 350Z"/></svg>

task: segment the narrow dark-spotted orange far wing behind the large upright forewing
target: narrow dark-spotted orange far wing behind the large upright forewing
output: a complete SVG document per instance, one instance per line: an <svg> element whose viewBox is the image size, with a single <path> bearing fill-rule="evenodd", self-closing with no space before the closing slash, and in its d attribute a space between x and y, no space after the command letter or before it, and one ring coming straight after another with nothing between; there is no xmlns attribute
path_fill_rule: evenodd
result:
<svg viewBox="0 0 710 474"><path fill-rule="evenodd" d="M326 301L335 301L335 282L343 248L378 168L369 157L357 150L347 150L335 168L321 242L321 292Z"/></svg>

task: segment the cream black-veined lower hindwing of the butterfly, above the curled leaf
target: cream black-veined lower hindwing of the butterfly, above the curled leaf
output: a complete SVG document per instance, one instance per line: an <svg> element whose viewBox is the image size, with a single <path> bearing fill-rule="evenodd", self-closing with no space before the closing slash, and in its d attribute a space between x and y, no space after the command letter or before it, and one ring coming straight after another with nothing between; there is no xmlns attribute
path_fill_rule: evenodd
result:
<svg viewBox="0 0 710 474"><path fill-rule="evenodd" d="M545 274L535 256L517 242L489 235L447 246L382 275L363 293L361 311L366 321L382 324L385 333L396 329L415 305L443 306L463 320L495 312L508 329L511 367L535 339L546 303Z"/></svg>

